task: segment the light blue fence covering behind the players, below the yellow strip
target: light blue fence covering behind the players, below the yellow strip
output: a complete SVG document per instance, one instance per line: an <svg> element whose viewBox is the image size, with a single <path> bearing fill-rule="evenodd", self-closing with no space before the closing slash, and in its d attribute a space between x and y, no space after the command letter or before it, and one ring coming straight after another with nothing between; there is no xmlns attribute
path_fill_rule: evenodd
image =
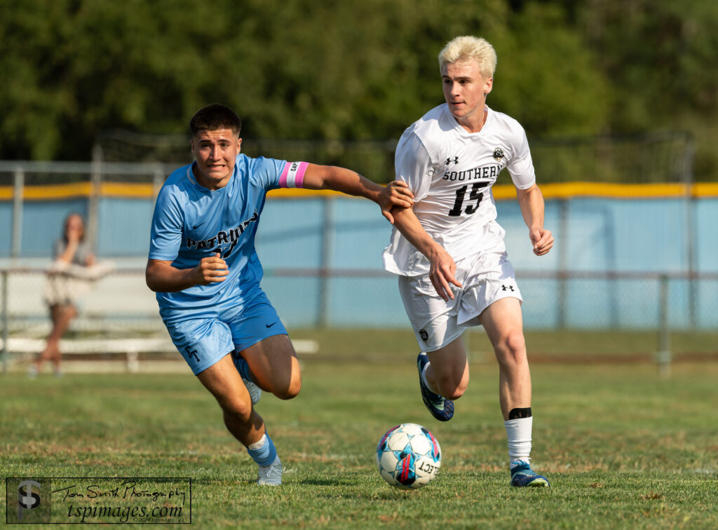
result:
<svg viewBox="0 0 718 530"><path fill-rule="evenodd" d="M103 259L146 256L154 204L147 199L103 197L99 204L97 254ZM509 258L518 271L689 270L718 272L718 199L691 203L683 198L650 200L577 197L546 201L545 226L556 237L554 250L537 257L516 200L497 203ZM50 259L70 211L88 213L84 198L26 200L22 210L20 257ZM566 215L562 220L561 216ZM329 230L325 233L325 223ZM0 258L11 252L12 202L0 201ZM565 227L567 233L561 233ZM690 230L690 238L686 235ZM256 238L266 270L264 289L289 326L405 327L409 322L396 278L381 271L381 251L391 226L376 204L344 197L267 200ZM276 269L368 270L375 276L276 276ZM562 263L561 256L564 256ZM654 328L659 322L660 283L647 279L518 278L526 327ZM322 290L323 289L323 290ZM321 294L325 294L322 306ZM561 296L565 305L561 310ZM670 283L672 327L694 323L718 327L718 282ZM691 312L691 301L692 312Z"/></svg>

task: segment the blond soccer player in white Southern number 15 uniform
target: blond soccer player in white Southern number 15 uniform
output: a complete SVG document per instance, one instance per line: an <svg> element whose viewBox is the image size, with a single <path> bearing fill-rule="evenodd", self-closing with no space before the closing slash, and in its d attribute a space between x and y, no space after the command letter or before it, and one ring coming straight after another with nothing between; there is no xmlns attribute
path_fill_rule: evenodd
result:
<svg viewBox="0 0 718 530"><path fill-rule="evenodd" d="M413 209L396 208L386 270L399 291L421 348L419 386L432 415L447 421L452 400L469 383L461 335L482 325L499 364L499 397L508 435L511 485L548 486L529 465L531 375L526 359L521 292L496 222L491 186L502 169L516 186L533 253L553 246L544 228L520 124L486 106L496 54L485 40L457 37L439 54L446 103L409 126L396 147L396 178L414 192Z"/></svg>

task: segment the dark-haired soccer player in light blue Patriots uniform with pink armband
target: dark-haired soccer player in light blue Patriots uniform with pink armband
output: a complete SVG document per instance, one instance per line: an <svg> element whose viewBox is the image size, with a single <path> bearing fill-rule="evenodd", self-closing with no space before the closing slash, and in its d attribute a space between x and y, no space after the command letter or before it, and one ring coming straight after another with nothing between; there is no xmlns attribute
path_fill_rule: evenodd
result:
<svg viewBox="0 0 718 530"><path fill-rule="evenodd" d="M259 465L257 482L279 485L283 468L253 405L260 389L291 399L302 382L286 329L259 286L254 236L266 192L305 187L360 195L389 221L391 206L411 207L411 192L341 167L246 157L240 118L225 106L200 108L190 129L195 162L172 172L159 192L146 282L177 349Z"/></svg>

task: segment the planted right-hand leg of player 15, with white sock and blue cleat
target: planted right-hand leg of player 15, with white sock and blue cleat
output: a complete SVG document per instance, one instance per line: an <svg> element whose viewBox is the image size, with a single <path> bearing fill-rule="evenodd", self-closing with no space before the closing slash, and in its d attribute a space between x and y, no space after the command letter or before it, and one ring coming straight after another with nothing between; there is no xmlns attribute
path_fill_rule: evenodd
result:
<svg viewBox="0 0 718 530"><path fill-rule="evenodd" d="M531 372L523 338L521 304L516 298L502 298L480 315L481 324L494 347L499 366L499 399L503 414L511 485L547 487L549 480L531 469Z"/></svg>

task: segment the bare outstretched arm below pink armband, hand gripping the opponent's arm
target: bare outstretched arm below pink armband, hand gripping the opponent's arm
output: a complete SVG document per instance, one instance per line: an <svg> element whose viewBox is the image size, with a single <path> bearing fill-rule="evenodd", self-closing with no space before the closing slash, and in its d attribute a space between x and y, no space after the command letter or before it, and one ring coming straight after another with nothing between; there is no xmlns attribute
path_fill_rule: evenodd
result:
<svg viewBox="0 0 718 530"><path fill-rule="evenodd" d="M343 167L309 164L304 173L303 186L309 190L335 190L366 197L379 205L381 214L390 223L394 222L391 208L411 208L414 205L414 194L406 182L395 181L384 187Z"/></svg>

